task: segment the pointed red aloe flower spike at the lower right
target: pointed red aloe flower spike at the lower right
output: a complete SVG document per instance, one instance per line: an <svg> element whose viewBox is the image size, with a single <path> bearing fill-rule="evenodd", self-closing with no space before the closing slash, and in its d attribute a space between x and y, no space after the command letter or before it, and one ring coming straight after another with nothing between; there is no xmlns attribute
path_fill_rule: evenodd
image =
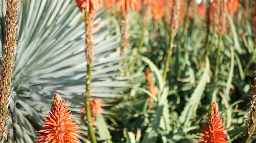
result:
<svg viewBox="0 0 256 143"><path fill-rule="evenodd" d="M222 127L222 119L220 119L218 104L212 102L206 122L202 126L202 130L200 130L203 135L198 135L201 138L196 138L201 142L195 143L228 143L228 141L226 141L228 135L225 134L224 131L225 128Z"/></svg>

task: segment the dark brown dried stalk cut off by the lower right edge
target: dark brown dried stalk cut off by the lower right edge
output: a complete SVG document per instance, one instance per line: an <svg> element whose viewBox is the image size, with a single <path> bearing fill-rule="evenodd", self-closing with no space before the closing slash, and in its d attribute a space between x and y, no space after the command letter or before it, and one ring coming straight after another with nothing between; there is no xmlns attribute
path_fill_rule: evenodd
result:
<svg viewBox="0 0 256 143"><path fill-rule="evenodd" d="M245 121L246 130L244 134L243 143L248 143L251 137L256 134L256 78L254 78L254 85L252 85L252 98L249 103L251 106L249 108L249 118Z"/></svg>

